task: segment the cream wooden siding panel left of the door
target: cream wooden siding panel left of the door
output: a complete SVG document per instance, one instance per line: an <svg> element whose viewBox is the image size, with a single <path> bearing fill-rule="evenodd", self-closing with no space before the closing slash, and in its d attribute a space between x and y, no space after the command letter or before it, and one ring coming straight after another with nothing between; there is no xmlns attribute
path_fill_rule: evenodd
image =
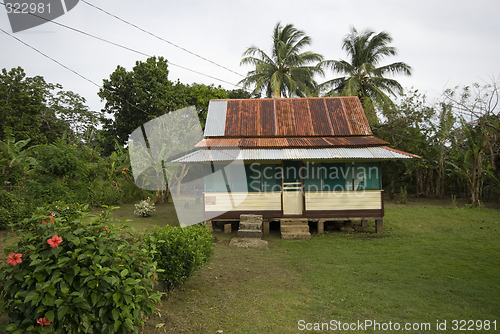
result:
<svg viewBox="0 0 500 334"><path fill-rule="evenodd" d="M281 211L281 192L205 193L205 211L207 212L245 210Z"/></svg>

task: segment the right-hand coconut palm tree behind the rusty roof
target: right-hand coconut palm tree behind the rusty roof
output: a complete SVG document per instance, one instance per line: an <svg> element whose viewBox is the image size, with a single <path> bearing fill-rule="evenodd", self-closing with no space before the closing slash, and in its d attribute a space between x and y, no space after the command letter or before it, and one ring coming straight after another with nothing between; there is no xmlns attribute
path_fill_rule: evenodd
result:
<svg viewBox="0 0 500 334"><path fill-rule="evenodd" d="M380 66L385 57L397 54L396 49L389 46L391 42L392 38L384 31L378 34L370 30L358 33L352 27L342 46L349 61L326 60L322 63L333 72L344 74L321 84L321 88L327 90L326 95L358 96L371 124L377 123L375 107L383 109L384 105L393 105L387 94L396 96L403 91L399 82L386 78L386 75L411 75L411 67L403 62Z"/></svg>

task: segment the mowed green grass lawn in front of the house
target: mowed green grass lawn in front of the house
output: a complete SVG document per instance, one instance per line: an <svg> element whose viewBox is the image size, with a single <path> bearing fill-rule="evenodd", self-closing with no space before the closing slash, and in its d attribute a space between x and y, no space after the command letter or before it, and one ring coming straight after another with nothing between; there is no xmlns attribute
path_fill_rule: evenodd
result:
<svg viewBox="0 0 500 334"><path fill-rule="evenodd" d="M114 216L133 218L133 205ZM130 225L142 231L175 222L173 208L163 206ZM388 332L300 331L299 320L432 326L400 333L435 333L437 320L447 320L439 333L459 333L454 319L496 320L500 331L498 210L389 203L383 236L373 228L311 240L270 235L269 250L232 248L231 235L215 236L211 262L169 294L145 334Z"/></svg>

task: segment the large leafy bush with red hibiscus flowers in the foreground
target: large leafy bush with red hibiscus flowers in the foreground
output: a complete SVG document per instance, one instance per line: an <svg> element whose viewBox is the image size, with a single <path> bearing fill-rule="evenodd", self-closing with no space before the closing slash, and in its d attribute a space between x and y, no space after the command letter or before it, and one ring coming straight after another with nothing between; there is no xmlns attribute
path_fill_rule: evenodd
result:
<svg viewBox="0 0 500 334"><path fill-rule="evenodd" d="M42 215L7 247L0 297L12 333L137 333L156 309L156 267L109 211L66 221ZM44 224L45 222L45 224Z"/></svg>

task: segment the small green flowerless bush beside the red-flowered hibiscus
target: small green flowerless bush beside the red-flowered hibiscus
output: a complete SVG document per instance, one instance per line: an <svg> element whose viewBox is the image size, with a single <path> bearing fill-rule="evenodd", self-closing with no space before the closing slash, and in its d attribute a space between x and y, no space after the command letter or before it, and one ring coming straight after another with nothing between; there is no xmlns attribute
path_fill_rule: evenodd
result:
<svg viewBox="0 0 500 334"><path fill-rule="evenodd" d="M213 237L204 225L164 226L148 236L160 281L170 290L191 277L213 254Z"/></svg>

